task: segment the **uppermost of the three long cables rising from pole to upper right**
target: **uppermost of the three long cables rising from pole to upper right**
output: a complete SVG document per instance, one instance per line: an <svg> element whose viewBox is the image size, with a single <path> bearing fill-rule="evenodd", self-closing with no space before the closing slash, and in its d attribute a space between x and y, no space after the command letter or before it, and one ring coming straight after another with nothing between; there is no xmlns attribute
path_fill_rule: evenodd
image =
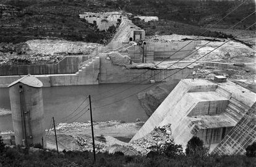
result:
<svg viewBox="0 0 256 167"><path fill-rule="evenodd" d="M207 30L203 31L203 33L207 32L208 30L210 30L213 26L215 26L216 24L220 23L224 18L228 17L229 14L233 13L236 9L238 9L240 6L242 6L242 4L244 4L246 1L242 2L241 4L239 4L239 6L235 7L231 12L229 12L228 14L226 14L223 18L221 18L220 20L218 20L215 24L211 25L210 28L208 28ZM188 46L190 43L192 43L193 41L195 41L196 39L198 39L200 36L203 35L203 33L201 33L200 35L198 35L196 38L194 38L192 41L190 41L189 43L187 43L185 46L181 47L181 49L179 49L178 51L174 52L174 54L176 54L177 52L181 51L182 49L184 49L184 47ZM173 56L174 54L169 55L169 57ZM159 65L160 63L164 62L165 60L169 59L169 57L166 57L165 59L161 60L161 62L157 63L156 65L154 65L153 67L156 67L157 65ZM151 68L153 68L151 67ZM130 81L133 81L136 78L139 78L140 76L142 76L143 74L147 73L150 70L145 71L144 73L140 74L139 76L136 76L135 78L130 79L129 81L127 81L127 83L129 83ZM121 86L117 87L120 88ZM101 94L105 94L106 92L112 91L114 89L117 88L113 88L113 89L109 89L108 91L102 92ZM98 95L98 96L101 96Z"/></svg>

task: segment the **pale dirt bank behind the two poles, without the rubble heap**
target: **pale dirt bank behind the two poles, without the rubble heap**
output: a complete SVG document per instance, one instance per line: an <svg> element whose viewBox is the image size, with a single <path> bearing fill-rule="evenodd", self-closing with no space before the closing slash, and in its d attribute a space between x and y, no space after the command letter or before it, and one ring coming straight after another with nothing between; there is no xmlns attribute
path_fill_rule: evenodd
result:
<svg viewBox="0 0 256 167"><path fill-rule="evenodd" d="M128 145L143 122L125 123L123 121L107 121L93 123L97 152L106 152L112 145ZM92 151L91 123L59 123L56 126L60 150ZM49 149L55 149L54 130L46 130Z"/></svg>

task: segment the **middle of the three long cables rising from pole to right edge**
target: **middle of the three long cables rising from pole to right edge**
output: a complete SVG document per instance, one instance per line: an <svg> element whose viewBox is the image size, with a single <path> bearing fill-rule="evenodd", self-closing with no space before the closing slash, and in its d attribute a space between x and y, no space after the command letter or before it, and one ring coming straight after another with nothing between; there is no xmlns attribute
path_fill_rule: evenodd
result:
<svg viewBox="0 0 256 167"><path fill-rule="evenodd" d="M247 15L247 17L243 18L241 21L237 22L235 25L231 26L231 27L230 27L228 30L226 30L226 31L229 31L230 29L234 28L234 26L236 26L237 24L243 22L246 18L250 17L250 16L251 16L252 14L254 14L254 13L255 13L255 12L252 12L251 14ZM219 36L220 36L220 35L219 35ZM217 36L216 38L218 38L218 36ZM216 38L214 38L214 39L216 39ZM201 49L202 47L207 46L207 44L209 44L209 43L211 43L211 41L209 41L208 43L206 43L206 44L204 44L203 46L199 47L199 48L196 49L195 51L190 52L190 54L186 55L186 57L189 57L189 55L191 55L191 54L193 54L194 52L198 51L198 50ZM174 62L172 65L169 65L168 67L166 67L166 68L160 70L158 73L154 74L153 76L158 75L159 73L161 73L161 72L164 71L164 70L168 70L168 68L172 67L173 65L175 65L175 64L178 63L178 62L181 62L181 60L186 59L186 57L183 57L182 59L180 59L180 60ZM144 81L147 81L148 79L152 78L153 76L150 76L149 78L144 79L144 80L143 80L142 82L140 82L139 84L142 84ZM130 86L129 88L124 89L124 90L122 90L122 91L120 91L120 92L117 92L116 94L120 94L121 92L125 92L125 91L127 91L127 90L129 90L129 89L131 89L131 88L134 88L135 86L136 86L136 85ZM101 99L97 99L96 101L98 101L98 100L104 100L104 99L107 99L107 98L109 98L109 97L116 96L116 94L112 94L112 95L110 95L110 96L107 96L107 97L104 97L104 98L101 98Z"/></svg>

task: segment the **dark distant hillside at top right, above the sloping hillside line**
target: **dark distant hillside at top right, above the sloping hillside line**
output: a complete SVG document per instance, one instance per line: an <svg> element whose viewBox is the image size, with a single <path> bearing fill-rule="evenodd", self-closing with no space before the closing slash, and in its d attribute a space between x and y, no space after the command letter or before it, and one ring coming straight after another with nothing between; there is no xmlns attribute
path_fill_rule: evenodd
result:
<svg viewBox="0 0 256 167"><path fill-rule="evenodd" d="M156 15L160 19L172 20L196 26L206 26L217 22L231 12L242 1L191 1L191 0L131 0L124 5L127 12L135 15ZM255 11L255 1L248 0L233 13L224 18L216 27L226 28ZM243 29L255 22L255 15L238 26ZM255 30L256 26L254 26ZM252 28L253 29L253 28Z"/></svg>

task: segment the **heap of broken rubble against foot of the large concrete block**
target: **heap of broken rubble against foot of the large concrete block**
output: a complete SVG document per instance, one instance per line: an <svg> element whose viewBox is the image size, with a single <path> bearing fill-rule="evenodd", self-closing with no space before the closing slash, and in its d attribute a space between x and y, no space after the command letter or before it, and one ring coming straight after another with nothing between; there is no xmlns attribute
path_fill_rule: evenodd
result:
<svg viewBox="0 0 256 167"><path fill-rule="evenodd" d="M167 124L155 128L147 136L138 139L137 141L132 141L130 144L142 155L147 155L151 150L166 147L166 145L170 143L173 143L173 138L171 137L171 124Z"/></svg>

